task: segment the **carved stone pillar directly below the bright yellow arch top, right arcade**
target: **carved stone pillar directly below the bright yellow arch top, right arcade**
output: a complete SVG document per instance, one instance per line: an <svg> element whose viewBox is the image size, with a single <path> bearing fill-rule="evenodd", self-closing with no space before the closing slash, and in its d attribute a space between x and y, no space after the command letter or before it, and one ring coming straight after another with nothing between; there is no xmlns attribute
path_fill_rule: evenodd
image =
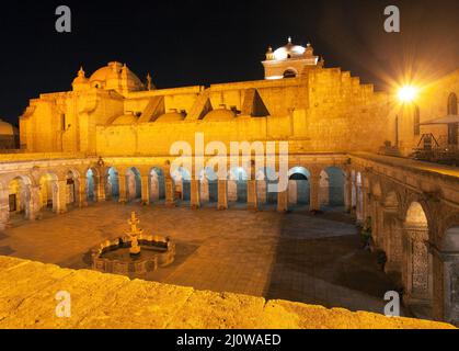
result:
<svg viewBox="0 0 459 351"><path fill-rule="evenodd" d="M405 291L403 297L408 304L432 302L432 257L425 242L427 238L426 227L405 227L402 279Z"/></svg>

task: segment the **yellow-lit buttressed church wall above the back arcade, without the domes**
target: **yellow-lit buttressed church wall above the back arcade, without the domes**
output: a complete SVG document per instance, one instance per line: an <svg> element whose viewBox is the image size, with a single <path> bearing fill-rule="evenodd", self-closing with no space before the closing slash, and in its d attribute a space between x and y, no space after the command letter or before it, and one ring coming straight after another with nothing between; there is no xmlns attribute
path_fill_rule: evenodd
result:
<svg viewBox="0 0 459 351"><path fill-rule="evenodd" d="M237 112L237 117L206 118L210 110L221 109ZM171 111L185 112L186 117L156 122ZM121 123L117 118L123 115L134 122ZM390 137L382 132L388 118L387 95L360 84L349 72L317 68L300 78L208 89L122 95L88 88L44 94L32 100L21 117L21 144L30 151L164 155L173 141L194 144L195 133L202 132L206 141L289 139L302 151L376 151Z"/></svg>

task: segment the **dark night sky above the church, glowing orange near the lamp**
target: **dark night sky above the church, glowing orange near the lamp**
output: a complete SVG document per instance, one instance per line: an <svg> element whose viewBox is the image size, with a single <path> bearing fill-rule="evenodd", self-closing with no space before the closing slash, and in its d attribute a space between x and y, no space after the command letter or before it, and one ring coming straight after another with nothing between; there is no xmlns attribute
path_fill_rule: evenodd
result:
<svg viewBox="0 0 459 351"><path fill-rule="evenodd" d="M72 10L72 33L55 31L55 10ZM399 5L401 33L383 31ZM9 1L0 5L0 116L16 123L28 99L70 90L80 65L91 75L127 63L158 88L263 79L268 45L306 45L387 89L412 68L434 79L459 68L458 0Z"/></svg>

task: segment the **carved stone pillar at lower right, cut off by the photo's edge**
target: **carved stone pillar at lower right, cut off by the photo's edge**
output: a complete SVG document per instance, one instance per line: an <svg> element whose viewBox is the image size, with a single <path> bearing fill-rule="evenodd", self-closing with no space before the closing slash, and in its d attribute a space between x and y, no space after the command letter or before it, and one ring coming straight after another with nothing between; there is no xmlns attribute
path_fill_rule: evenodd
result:
<svg viewBox="0 0 459 351"><path fill-rule="evenodd" d="M433 317L459 325L459 251L440 251L431 247L433 257Z"/></svg>

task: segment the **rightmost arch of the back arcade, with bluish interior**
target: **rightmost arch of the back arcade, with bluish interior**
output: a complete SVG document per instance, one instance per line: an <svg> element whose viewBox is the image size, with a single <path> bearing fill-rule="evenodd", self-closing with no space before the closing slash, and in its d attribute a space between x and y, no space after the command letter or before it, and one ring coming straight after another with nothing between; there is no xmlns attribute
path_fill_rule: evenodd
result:
<svg viewBox="0 0 459 351"><path fill-rule="evenodd" d="M319 203L322 211L344 212L345 174L340 167L329 167L320 173Z"/></svg>

